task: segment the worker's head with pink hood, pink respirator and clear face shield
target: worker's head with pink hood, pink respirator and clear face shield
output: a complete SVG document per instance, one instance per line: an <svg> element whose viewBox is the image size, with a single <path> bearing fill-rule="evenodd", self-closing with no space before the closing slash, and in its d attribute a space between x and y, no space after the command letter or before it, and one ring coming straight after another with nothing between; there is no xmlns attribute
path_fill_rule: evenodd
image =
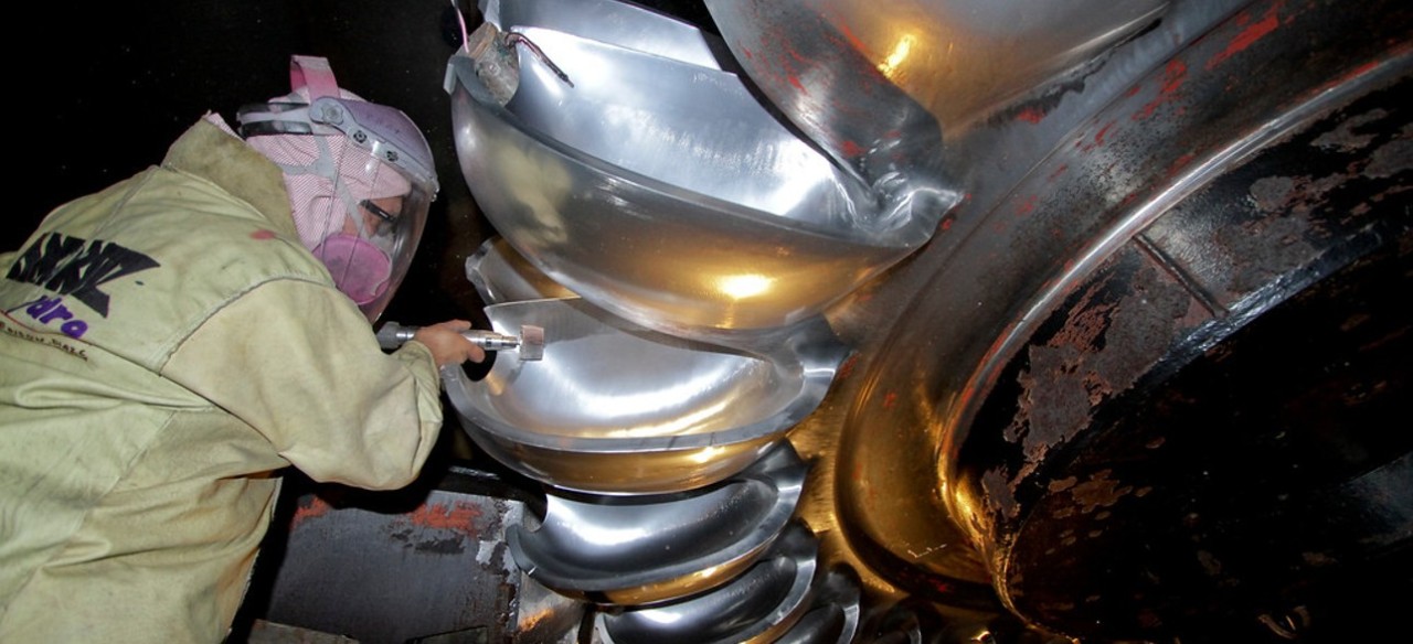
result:
<svg viewBox="0 0 1413 644"><path fill-rule="evenodd" d="M301 102L311 92L297 85L284 99L246 106L240 134L284 171L300 240L376 322L407 275L437 175L403 112L333 92Z"/></svg>

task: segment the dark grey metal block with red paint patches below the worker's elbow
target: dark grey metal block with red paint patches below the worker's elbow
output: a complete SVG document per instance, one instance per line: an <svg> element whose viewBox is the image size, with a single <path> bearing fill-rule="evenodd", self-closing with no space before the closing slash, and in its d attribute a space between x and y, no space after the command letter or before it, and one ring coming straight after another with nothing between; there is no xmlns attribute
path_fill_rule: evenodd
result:
<svg viewBox="0 0 1413 644"><path fill-rule="evenodd" d="M454 466L396 493L292 490L243 607L254 617L363 644L574 640L584 604L524 578L503 538L543 513L524 482Z"/></svg>

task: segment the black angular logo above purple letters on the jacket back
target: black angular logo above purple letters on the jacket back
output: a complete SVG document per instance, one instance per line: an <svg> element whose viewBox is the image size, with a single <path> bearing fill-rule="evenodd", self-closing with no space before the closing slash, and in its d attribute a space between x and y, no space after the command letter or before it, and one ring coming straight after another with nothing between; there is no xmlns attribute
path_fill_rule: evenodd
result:
<svg viewBox="0 0 1413 644"><path fill-rule="evenodd" d="M158 266L157 260L112 242L48 233L25 249L6 277L73 295L107 318L109 298L97 287Z"/></svg>

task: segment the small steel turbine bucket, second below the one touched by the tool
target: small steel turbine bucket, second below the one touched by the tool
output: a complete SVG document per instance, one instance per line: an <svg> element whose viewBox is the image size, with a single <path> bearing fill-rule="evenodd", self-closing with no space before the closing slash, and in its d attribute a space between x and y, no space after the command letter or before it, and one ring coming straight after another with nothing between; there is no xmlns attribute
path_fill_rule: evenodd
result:
<svg viewBox="0 0 1413 644"><path fill-rule="evenodd" d="M791 524L745 573L715 590L660 606L595 616L608 644L776 641L810 609L817 592L818 547L810 528Z"/></svg>

